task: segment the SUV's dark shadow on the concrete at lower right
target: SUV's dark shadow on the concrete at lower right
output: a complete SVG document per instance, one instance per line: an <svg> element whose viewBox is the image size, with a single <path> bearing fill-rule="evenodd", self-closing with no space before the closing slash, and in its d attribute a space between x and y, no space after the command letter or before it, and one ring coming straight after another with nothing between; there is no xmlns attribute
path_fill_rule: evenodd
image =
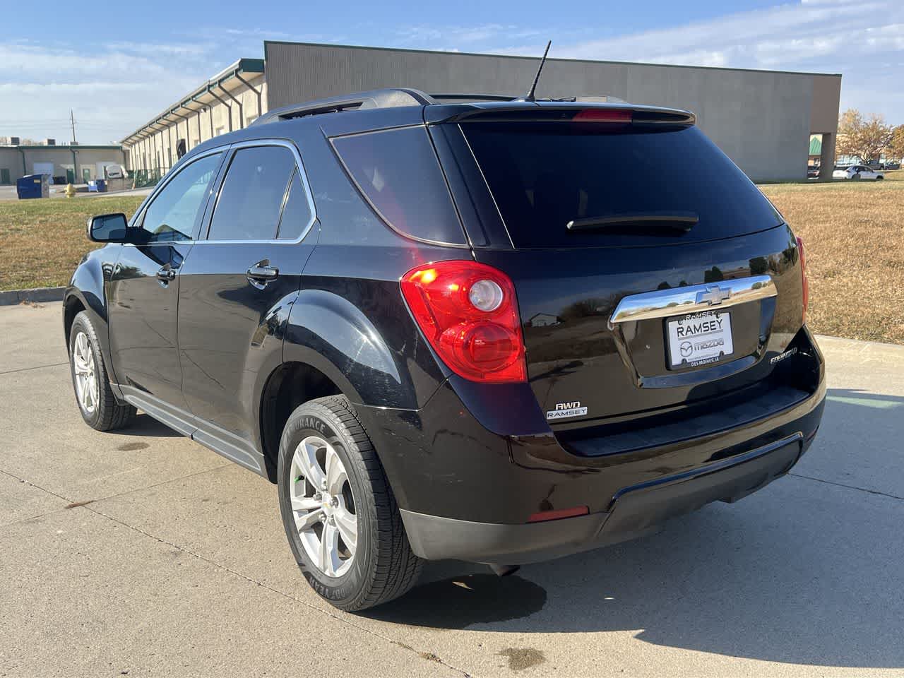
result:
<svg viewBox="0 0 904 678"><path fill-rule="evenodd" d="M840 432L853 422L902 417L904 398L831 390L820 437L839 447L856 440ZM897 458L892 438L878 451L854 444L848 463ZM820 454L817 438L804 459ZM473 631L629 631L655 645L765 661L904 667L904 501L837 482L843 468L815 461L808 471L817 477L792 469L737 504L503 579L482 566L428 563L418 588L367 616ZM901 468L892 472L904 476Z"/></svg>

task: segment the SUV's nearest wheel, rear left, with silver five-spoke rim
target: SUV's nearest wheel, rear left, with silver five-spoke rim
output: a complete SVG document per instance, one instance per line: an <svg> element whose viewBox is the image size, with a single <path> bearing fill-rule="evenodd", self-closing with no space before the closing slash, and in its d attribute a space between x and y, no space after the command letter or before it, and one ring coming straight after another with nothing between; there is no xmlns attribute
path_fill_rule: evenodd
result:
<svg viewBox="0 0 904 678"><path fill-rule="evenodd" d="M298 567L331 605L363 610L414 586L421 560L371 439L343 396L310 400L288 418L278 492Z"/></svg>

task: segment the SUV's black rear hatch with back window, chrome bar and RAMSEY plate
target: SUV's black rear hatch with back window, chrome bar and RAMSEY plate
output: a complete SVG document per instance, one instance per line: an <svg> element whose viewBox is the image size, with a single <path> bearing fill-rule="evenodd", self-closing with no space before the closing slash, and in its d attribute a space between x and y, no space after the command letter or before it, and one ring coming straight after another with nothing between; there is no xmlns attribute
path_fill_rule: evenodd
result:
<svg viewBox="0 0 904 678"><path fill-rule="evenodd" d="M493 109L434 138L476 259L513 279L554 429L699 408L766 380L800 329L793 234L692 117Z"/></svg>

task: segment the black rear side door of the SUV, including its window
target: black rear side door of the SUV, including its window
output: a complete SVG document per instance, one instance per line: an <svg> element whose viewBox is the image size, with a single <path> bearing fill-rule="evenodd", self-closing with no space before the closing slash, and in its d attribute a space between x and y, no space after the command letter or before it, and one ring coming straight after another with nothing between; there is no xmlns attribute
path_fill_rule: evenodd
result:
<svg viewBox="0 0 904 678"><path fill-rule="evenodd" d="M318 230L296 146L244 142L225 166L206 236L180 275L183 393L196 437L258 470L257 393L282 362L279 325Z"/></svg>

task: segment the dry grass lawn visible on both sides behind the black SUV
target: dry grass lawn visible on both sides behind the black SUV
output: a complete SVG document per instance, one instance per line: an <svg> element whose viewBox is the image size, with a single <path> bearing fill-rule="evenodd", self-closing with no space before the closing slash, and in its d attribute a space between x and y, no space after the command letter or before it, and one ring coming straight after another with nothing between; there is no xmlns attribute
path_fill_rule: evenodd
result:
<svg viewBox="0 0 904 678"><path fill-rule="evenodd" d="M904 344L904 170L884 182L761 186L805 240L807 322L819 334ZM141 196L0 202L0 290L66 285L91 214Z"/></svg>

